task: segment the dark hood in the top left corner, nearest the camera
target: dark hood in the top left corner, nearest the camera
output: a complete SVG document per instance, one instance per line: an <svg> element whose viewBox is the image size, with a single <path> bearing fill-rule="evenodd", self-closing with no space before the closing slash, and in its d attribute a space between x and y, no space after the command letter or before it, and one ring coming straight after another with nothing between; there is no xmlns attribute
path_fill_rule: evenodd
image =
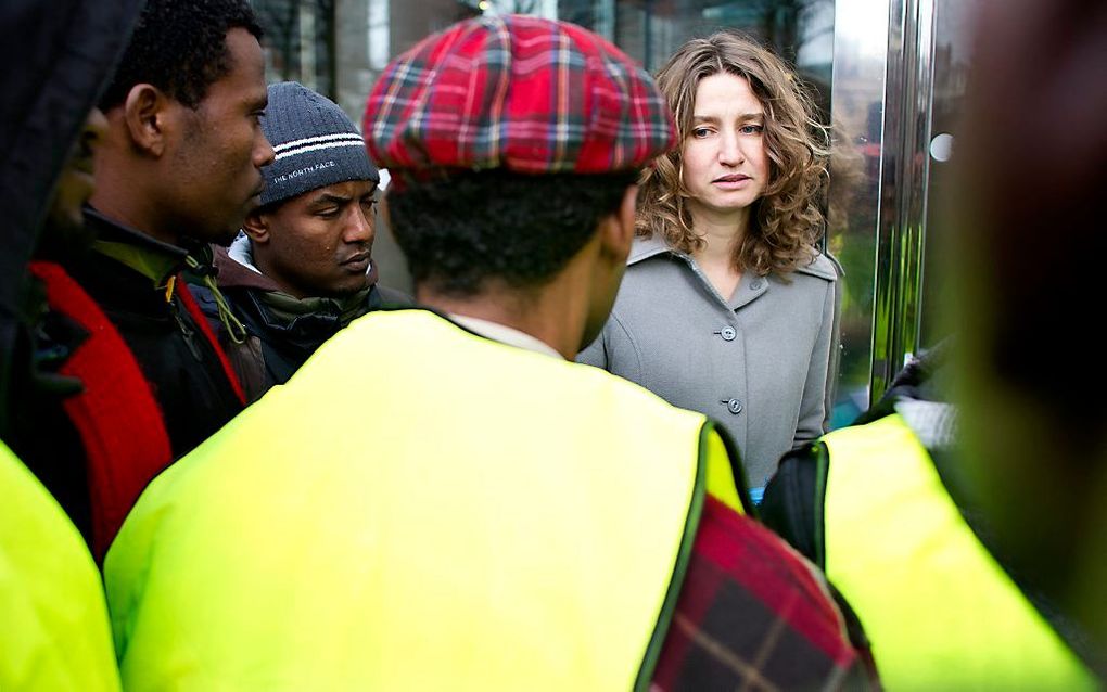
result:
<svg viewBox="0 0 1107 692"><path fill-rule="evenodd" d="M0 424L31 258L54 185L144 0L0 2Z"/></svg>

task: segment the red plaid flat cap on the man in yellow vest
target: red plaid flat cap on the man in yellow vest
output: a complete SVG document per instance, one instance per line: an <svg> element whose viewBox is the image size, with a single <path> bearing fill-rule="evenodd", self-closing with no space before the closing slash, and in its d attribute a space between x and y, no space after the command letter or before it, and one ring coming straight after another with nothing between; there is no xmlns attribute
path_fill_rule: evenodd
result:
<svg viewBox="0 0 1107 692"><path fill-rule="evenodd" d="M461 22L393 60L362 133L392 173L629 171L676 142L664 96L633 60L586 29L523 16Z"/></svg>

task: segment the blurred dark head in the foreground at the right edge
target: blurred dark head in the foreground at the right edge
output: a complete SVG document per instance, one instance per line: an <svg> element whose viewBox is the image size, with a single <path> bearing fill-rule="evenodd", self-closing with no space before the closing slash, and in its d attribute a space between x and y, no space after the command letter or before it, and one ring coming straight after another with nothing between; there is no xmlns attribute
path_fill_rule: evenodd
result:
<svg viewBox="0 0 1107 692"><path fill-rule="evenodd" d="M1068 266L1107 254L1107 6L991 9L960 172L965 461L1003 550L1107 642L1107 370L1089 348L1107 288Z"/></svg>

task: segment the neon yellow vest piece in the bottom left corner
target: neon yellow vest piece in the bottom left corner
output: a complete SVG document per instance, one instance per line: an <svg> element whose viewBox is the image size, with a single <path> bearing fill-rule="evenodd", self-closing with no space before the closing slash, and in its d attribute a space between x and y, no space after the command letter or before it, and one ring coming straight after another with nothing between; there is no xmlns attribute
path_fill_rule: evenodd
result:
<svg viewBox="0 0 1107 692"><path fill-rule="evenodd" d="M118 690L92 556L54 498L2 442L0 495L0 690Z"/></svg>

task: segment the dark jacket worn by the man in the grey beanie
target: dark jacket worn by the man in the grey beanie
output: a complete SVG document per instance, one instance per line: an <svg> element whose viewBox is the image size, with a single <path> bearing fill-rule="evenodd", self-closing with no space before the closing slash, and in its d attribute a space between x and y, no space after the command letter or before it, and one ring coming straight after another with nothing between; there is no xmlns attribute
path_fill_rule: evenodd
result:
<svg viewBox="0 0 1107 692"><path fill-rule="evenodd" d="M283 293L269 277L252 266L249 240L239 236L232 250L214 247L216 282L235 317L246 328L246 339L236 343L219 316L216 297L207 286L189 278L189 288L219 342L227 351L248 401L257 401L269 388L283 384L324 341L352 320L382 307L406 307L412 299L400 291L377 286L376 266L369 275L369 288L353 304L327 298L298 301ZM296 314L273 307L273 297L294 306Z"/></svg>

